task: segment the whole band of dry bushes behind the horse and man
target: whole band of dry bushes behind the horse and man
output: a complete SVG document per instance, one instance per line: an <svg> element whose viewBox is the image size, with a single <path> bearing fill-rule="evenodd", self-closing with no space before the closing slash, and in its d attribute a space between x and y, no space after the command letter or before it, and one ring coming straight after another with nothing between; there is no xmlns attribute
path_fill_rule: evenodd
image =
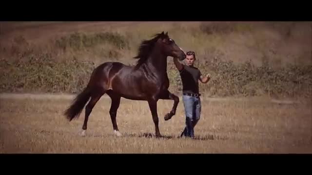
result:
<svg viewBox="0 0 312 175"><path fill-rule="evenodd" d="M209 72L212 79L208 85L200 84L200 88L210 96L312 96L312 66L288 65L273 69L266 62L255 67L250 61L234 65L218 57L204 60L198 68ZM0 90L77 93L87 85L95 67L94 63L78 61L75 57L55 61L50 54L32 55L15 62L2 59ZM170 89L181 91L180 75L172 63L168 66L168 76Z"/></svg>

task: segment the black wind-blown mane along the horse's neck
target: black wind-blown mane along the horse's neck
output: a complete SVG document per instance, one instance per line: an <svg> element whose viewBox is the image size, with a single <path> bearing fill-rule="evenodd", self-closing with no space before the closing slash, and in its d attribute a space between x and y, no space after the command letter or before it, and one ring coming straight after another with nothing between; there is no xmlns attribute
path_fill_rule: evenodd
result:
<svg viewBox="0 0 312 175"><path fill-rule="evenodd" d="M151 54L152 49L154 48L156 41L162 35L164 35L164 34L163 33L156 34L156 35L154 35L154 38L152 38L150 40L143 40L141 42L139 49L138 49L138 54L137 54L137 56L134 57L134 58L138 59L136 66L140 66L143 63L145 63L145 61L147 60L147 58Z"/></svg>

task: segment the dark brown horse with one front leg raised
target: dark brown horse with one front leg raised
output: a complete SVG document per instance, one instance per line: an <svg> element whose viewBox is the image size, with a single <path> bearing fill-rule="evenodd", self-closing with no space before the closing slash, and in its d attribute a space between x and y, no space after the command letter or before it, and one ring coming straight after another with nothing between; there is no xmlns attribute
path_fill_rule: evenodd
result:
<svg viewBox="0 0 312 175"><path fill-rule="evenodd" d="M105 93L111 98L109 114L113 132L121 136L116 116L120 98L147 101L155 124L156 137L162 137L158 128L157 101L173 100L172 110L164 117L170 120L176 114L179 98L171 93L167 75L167 57L176 57L180 61L186 58L184 51L171 39L168 32L153 35L150 40L143 40L139 46L137 63L134 66L120 62L105 62L96 67L87 86L76 96L64 115L70 121L77 119L85 106L85 118L81 135L85 136L89 115L98 100Z"/></svg>

